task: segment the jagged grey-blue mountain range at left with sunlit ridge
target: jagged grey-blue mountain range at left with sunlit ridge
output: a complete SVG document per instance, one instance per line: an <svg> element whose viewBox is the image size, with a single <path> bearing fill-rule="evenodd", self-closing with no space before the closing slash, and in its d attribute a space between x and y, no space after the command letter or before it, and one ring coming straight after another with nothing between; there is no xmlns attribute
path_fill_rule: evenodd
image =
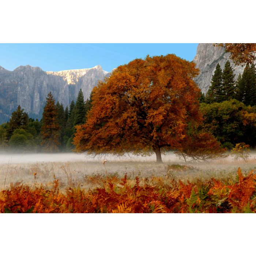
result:
<svg viewBox="0 0 256 256"><path fill-rule="evenodd" d="M0 124L10 119L20 105L30 117L41 119L46 96L51 91L64 108L76 99L80 88L84 99L99 80L110 75L100 65L93 68L43 71L39 67L20 66L14 71L0 67Z"/></svg>

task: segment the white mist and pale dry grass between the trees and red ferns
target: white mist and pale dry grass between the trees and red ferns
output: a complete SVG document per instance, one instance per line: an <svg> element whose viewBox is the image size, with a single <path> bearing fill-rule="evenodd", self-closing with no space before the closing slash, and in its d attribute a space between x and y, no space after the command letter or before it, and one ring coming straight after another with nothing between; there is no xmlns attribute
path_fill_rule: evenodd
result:
<svg viewBox="0 0 256 256"><path fill-rule="evenodd" d="M103 160L106 162L103 164ZM10 188L11 184L37 185L44 184L46 187L53 185L53 177L60 180L60 188L67 186L93 188L89 177L98 179L100 183L106 176L124 177L125 174L131 179L139 177L169 177L184 182L208 180L212 177L236 179L238 167L243 173L256 169L256 152L252 152L248 162L234 160L229 155L219 160L207 162L184 162L173 152L162 156L163 163L155 163L155 155L141 157L139 155L125 154L117 157L112 154L91 155L76 153L55 154L0 154L0 189ZM36 174L35 174L36 173ZM35 175L34 175L35 174Z"/></svg>

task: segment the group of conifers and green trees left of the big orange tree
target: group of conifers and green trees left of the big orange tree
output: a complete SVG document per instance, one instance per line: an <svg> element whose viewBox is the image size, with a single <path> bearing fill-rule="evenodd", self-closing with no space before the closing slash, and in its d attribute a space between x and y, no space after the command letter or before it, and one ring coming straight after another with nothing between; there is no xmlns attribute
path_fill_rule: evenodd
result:
<svg viewBox="0 0 256 256"><path fill-rule="evenodd" d="M40 121L29 118L19 105L10 120L0 125L0 151L70 152L75 126L86 121L91 97L84 101L80 89L76 102L72 100L64 109L50 92Z"/></svg>

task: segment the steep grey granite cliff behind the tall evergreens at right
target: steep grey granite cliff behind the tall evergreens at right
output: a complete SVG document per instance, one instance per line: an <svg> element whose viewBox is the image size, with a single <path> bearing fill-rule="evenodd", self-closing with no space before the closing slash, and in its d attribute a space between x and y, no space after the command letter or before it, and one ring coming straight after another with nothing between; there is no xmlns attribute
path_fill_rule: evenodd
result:
<svg viewBox="0 0 256 256"><path fill-rule="evenodd" d="M223 47L214 46L213 44L198 44L193 62L200 69L200 74L194 80L204 94L211 85L211 78L218 63L223 70L226 61L229 60L231 67L234 69L234 74L236 74L235 79L244 71L245 67L234 65L229 56L230 53L226 53Z"/></svg>

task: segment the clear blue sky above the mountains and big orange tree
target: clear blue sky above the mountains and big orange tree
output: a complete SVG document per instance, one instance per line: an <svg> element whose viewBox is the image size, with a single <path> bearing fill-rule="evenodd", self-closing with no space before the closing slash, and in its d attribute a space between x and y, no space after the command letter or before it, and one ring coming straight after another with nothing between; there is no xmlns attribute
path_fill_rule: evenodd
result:
<svg viewBox="0 0 256 256"><path fill-rule="evenodd" d="M147 54L177 56L193 60L198 44L0 44L0 66L14 70L20 65L44 71L91 68L101 65L111 71Z"/></svg>

